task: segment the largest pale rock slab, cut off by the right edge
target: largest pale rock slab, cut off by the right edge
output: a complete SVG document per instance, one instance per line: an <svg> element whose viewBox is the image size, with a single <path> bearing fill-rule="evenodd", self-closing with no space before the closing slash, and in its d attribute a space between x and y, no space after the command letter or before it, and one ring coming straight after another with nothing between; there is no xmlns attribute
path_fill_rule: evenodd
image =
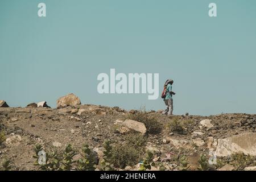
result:
<svg viewBox="0 0 256 182"><path fill-rule="evenodd" d="M216 156L229 156L240 152L256 156L256 133L243 133L218 139Z"/></svg>

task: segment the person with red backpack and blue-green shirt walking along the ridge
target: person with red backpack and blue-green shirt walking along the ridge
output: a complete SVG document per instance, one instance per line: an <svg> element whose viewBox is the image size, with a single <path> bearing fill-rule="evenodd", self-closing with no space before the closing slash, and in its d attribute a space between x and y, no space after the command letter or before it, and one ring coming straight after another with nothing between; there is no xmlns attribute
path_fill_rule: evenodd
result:
<svg viewBox="0 0 256 182"><path fill-rule="evenodd" d="M163 111L162 114L172 115L172 111L174 110L172 95L175 95L175 92L172 92L172 84L174 84L174 80L166 80L164 86L166 87L166 97L164 98L164 104L166 104L166 110Z"/></svg>

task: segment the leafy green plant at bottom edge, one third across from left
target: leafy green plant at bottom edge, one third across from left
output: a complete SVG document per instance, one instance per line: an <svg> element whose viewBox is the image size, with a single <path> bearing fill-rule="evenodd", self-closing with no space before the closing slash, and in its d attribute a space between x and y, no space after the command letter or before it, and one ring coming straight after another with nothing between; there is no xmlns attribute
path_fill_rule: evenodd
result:
<svg viewBox="0 0 256 182"><path fill-rule="evenodd" d="M82 147L82 159L77 160L77 170L94 171L96 169L96 155L90 150L88 144Z"/></svg>

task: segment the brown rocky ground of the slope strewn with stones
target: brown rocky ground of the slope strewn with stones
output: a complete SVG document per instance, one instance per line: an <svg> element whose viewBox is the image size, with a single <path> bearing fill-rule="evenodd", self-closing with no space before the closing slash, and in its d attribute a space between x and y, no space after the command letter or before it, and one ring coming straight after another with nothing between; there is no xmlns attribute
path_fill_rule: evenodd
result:
<svg viewBox="0 0 256 182"><path fill-rule="evenodd" d="M143 150L138 161L127 163L127 166L126 163L125 166L117 163L115 169L138 169L137 164L146 151L153 152L152 162L158 164L152 170L161 166L166 170L256 169L256 115L167 117L161 111L141 113L119 107L79 104L51 109L42 106L0 107L0 163L10 160L11 170L39 169L32 158L36 144L41 144L45 150L64 150L70 143L79 153L82 144L86 143L100 158L104 140L118 146L129 140L127 136L139 138ZM154 119L148 123L138 121L143 117ZM205 161L202 156L205 156ZM209 164L209 158L216 160ZM207 167L203 165L205 162Z"/></svg>

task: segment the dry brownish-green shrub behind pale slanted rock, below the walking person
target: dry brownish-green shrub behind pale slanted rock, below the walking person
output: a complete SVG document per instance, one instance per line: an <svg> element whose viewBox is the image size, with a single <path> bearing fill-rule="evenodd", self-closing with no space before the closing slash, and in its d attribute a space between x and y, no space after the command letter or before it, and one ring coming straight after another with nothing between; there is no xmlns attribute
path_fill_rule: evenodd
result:
<svg viewBox="0 0 256 182"><path fill-rule="evenodd" d="M159 134L163 128L158 119L146 113L146 111L138 111L137 113L129 114L128 119L144 123L149 134Z"/></svg>

